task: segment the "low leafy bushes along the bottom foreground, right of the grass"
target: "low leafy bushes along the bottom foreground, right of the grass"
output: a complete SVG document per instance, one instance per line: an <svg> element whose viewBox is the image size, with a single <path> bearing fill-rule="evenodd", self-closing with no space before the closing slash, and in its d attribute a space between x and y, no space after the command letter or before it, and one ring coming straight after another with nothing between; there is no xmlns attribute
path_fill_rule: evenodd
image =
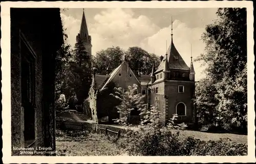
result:
<svg viewBox="0 0 256 164"><path fill-rule="evenodd" d="M230 142L229 139L218 141L200 141L189 136L181 138L179 132L169 128L142 127L131 131L117 144L125 148L129 155L142 156L188 156L188 155L247 155L247 145Z"/></svg>

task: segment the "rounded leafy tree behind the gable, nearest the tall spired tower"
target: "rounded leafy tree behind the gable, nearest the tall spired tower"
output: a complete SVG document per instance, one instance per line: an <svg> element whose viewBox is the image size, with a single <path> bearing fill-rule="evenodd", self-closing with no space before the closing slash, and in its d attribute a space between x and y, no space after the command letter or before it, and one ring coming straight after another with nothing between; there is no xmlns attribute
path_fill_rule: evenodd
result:
<svg viewBox="0 0 256 164"><path fill-rule="evenodd" d="M93 67L97 73L105 73L106 68L115 69L120 65L120 61L124 56L124 50L120 47L110 47L105 50L100 50L93 57Z"/></svg>

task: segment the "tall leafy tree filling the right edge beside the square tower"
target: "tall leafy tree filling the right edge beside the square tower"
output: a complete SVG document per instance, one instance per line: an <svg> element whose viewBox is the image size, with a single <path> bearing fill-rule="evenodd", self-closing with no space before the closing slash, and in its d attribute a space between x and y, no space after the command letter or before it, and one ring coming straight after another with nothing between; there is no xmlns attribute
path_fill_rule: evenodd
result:
<svg viewBox="0 0 256 164"><path fill-rule="evenodd" d="M214 79L216 108L226 123L247 124L246 8L220 8L219 19L206 26L202 39L206 52L197 59Z"/></svg>

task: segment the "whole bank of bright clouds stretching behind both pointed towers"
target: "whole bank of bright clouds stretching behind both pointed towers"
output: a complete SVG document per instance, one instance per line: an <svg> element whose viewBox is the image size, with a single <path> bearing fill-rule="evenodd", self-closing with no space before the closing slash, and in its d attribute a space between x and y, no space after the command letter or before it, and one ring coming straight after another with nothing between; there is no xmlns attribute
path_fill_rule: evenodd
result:
<svg viewBox="0 0 256 164"><path fill-rule="evenodd" d="M127 49L131 46L140 46L148 52L161 56L166 52L170 43L170 24L160 29L145 15L134 16L131 9L106 9L94 16L93 22L87 22L89 34L92 36L92 54L101 49L120 46ZM61 13L64 27L72 46L80 30L81 20ZM200 40L204 28L189 28L186 23L175 20L173 23L173 39L182 58L190 65L190 45L194 59L204 50L204 43ZM203 76L200 63L194 63L196 79Z"/></svg>

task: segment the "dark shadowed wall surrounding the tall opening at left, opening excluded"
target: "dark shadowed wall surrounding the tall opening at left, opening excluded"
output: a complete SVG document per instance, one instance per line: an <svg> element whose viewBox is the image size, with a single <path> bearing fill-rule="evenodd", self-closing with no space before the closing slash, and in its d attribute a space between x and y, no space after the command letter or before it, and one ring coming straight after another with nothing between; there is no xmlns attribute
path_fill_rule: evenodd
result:
<svg viewBox="0 0 256 164"><path fill-rule="evenodd" d="M35 142L30 147L54 147L54 61L56 52L63 43L59 9L11 8L11 144L24 147L24 110L22 110L20 64L22 50L29 47L35 56ZM50 15L50 16L49 16ZM51 24L51 26L49 26ZM20 36L24 36L25 46ZM52 37L52 38L51 38ZM46 40L47 39L47 40ZM42 58L47 65L43 70ZM42 73L45 72L43 83ZM50 73L49 73L50 72ZM43 92L48 86L43 105ZM49 95L50 94L50 95ZM48 105L47 105L48 104ZM51 113L50 115L46 114ZM49 116L49 118L47 118ZM46 119L47 118L47 119ZM49 136L50 135L50 136ZM50 143L48 145L47 143ZM12 151L12 155L20 155ZM26 155L26 154L25 154Z"/></svg>

